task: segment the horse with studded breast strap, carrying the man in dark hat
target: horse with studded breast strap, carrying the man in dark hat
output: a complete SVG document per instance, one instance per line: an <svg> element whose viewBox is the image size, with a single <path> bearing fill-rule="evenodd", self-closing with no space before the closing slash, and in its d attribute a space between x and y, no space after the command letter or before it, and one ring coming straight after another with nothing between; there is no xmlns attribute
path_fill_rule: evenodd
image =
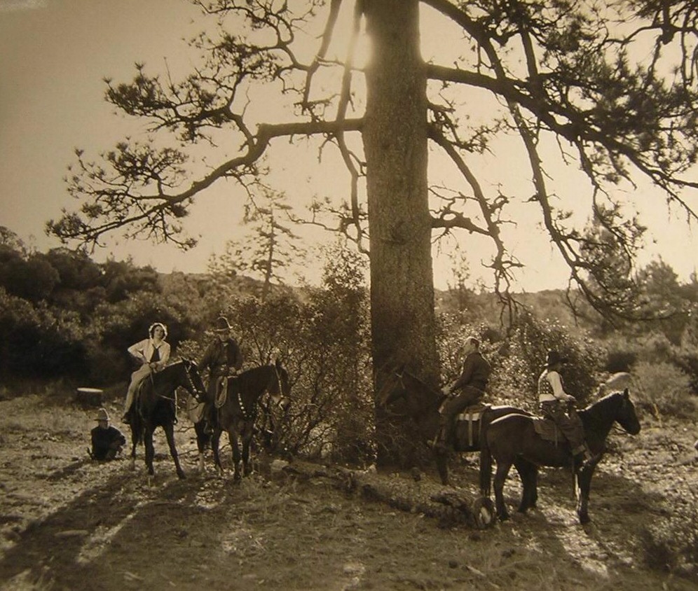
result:
<svg viewBox="0 0 698 591"><path fill-rule="evenodd" d="M228 440L233 448L233 480L239 482L242 475L252 473L249 464L249 445L254 435L254 423L257 417L259 398L268 392L273 401L280 403L287 399L291 392L289 375L277 359L273 365L259 366L243 371L236 377L228 378L226 395L221 406L217 408L217 424L210 436L214 464L223 473L219 455L221 433L228 433ZM194 427L199 450L199 466L203 467L203 452L209 436L204 431L205 419L200 419ZM242 453L238 438L242 440ZM240 471L242 464L242 471Z"/></svg>

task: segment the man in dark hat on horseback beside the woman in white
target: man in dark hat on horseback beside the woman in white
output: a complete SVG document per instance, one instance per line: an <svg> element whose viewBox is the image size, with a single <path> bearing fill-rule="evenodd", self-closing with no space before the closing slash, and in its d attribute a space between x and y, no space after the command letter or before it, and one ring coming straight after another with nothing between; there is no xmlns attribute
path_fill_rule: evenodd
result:
<svg viewBox="0 0 698 591"><path fill-rule="evenodd" d="M205 417L210 427L214 426L214 402L221 384L228 377L238 373L242 367L242 351L238 341L233 337L233 327L224 316L218 317L214 324L216 339L208 346L198 363L201 372L208 369L208 384L206 387Z"/></svg>

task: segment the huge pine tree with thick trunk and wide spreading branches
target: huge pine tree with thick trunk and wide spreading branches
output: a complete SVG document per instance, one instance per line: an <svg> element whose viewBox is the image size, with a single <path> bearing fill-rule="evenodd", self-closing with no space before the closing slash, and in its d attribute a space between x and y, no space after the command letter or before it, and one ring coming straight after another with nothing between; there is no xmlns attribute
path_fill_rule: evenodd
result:
<svg viewBox="0 0 698 591"><path fill-rule="evenodd" d="M493 284L506 293L521 263L507 249L502 224L527 211L527 218L535 216L529 231L545 229L570 269L570 285L603 303L606 286L589 278L595 249L579 226L594 211L617 206L616 186L635 186L644 176L687 218L696 216L694 197L685 191L697 188L690 175L698 146L694 3L196 4L217 21L220 34L193 41L204 60L191 76L164 80L138 67L132 83L110 82L107 90L119 109L146 118L153 134L174 136L179 145L124 141L100 163L78 153L69 190L83 205L49 228L63 239L93 243L127 228L186 248L193 240L182 218L213 183L235 179L254 191L266 172L265 155L279 139L317 137L323 149L334 145L348 179L347 205L334 209L344 215L336 227L370 253L378 388L392 362L410 363L438 380L434 234L459 228L491 240ZM349 31L345 43L342 29ZM371 56L360 67L356 52L364 36ZM446 40L428 62L420 36ZM265 100L277 92L295 111L252 123L248 97L254 100L257 86ZM502 135L512 137L528 163L530 181L521 179L516 193L500 190L502 165L490 178L483 166ZM228 153L236 141L240 150ZM191 164L196 144L210 146L207 161L218 155L218 164L203 171ZM453 179L431 192L427 154L434 163L444 158L453 171ZM575 183L574 193L562 193L554 169L564 165L581 170L586 186ZM629 195L622 199L629 202ZM622 211L632 219L629 209L626 203ZM615 233L627 220L608 216L605 222Z"/></svg>

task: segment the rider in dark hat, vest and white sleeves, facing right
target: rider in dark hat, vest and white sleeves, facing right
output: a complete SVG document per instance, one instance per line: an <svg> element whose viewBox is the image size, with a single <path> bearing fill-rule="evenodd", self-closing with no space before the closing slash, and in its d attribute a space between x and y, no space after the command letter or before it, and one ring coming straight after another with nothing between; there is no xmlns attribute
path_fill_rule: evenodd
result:
<svg viewBox="0 0 698 591"><path fill-rule="evenodd" d="M544 417L554 420L555 424L567 438L572 448L577 470L584 468L594 457L584 439L584 426L576 413L566 412L568 403L576 401L574 396L567 394L562 382L560 370L568 360L557 351L547 352L545 369L538 377L538 403Z"/></svg>

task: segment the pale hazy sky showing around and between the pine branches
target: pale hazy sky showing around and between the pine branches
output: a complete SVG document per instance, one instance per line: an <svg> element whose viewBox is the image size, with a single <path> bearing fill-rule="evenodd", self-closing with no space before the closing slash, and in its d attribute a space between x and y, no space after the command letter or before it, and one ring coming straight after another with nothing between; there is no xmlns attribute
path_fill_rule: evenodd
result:
<svg viewBox="0 0 698 591"><path fill-rule="evenodd" d="M125 134L142 130L104 101L103 78L128 81L135 62L144 62L150 71L170 69L175 78L184 76L195 60L182 39L202 29L199 19L198 9L186 0L0 0L0 225L39 251L59 246L45 235L44 225L60 217L62 208L76 207L63 181L75 161L74 149L96 155ZM500 146L487 166L501 169L512 183L528 183L530 172L508 150ZM318 172L316 160L315 152L294 151L272 161L277 188L290 202L301 193L307 197L322 190L322 183L335 196L348 191L338 162L327 156ZM432 181L438 180L437 171ZM573 193L578 182L570 176L563 180L563 190ZM641 264L662 256L686 281L696 270L697 237L680 216L666 210L661 198L650 199L651 188L641 183L639 191L648 195L641 200L641 221L652 224ZM186 221L189 233L199 239L191 251L115 235L95 259L132 256L138 265L163 272L204 272L210 257L224 251L226 240L245 232L239 223L244 198L231 185L203 195ZM526 209L517 211L520 223L505 230L509 247L527 265L518 274L518 287L562 288L568 273L545 235L526 223L528 215ZM322 230L306 228L301 234L309 242L331 241ZM488 244L463 236L461 247L470 258L472 281L487 284L480 262L488 260ZM303 273L312 275L310 266ZM446 288L451 277L449 259L435 248L435 285Z"/></svg>

